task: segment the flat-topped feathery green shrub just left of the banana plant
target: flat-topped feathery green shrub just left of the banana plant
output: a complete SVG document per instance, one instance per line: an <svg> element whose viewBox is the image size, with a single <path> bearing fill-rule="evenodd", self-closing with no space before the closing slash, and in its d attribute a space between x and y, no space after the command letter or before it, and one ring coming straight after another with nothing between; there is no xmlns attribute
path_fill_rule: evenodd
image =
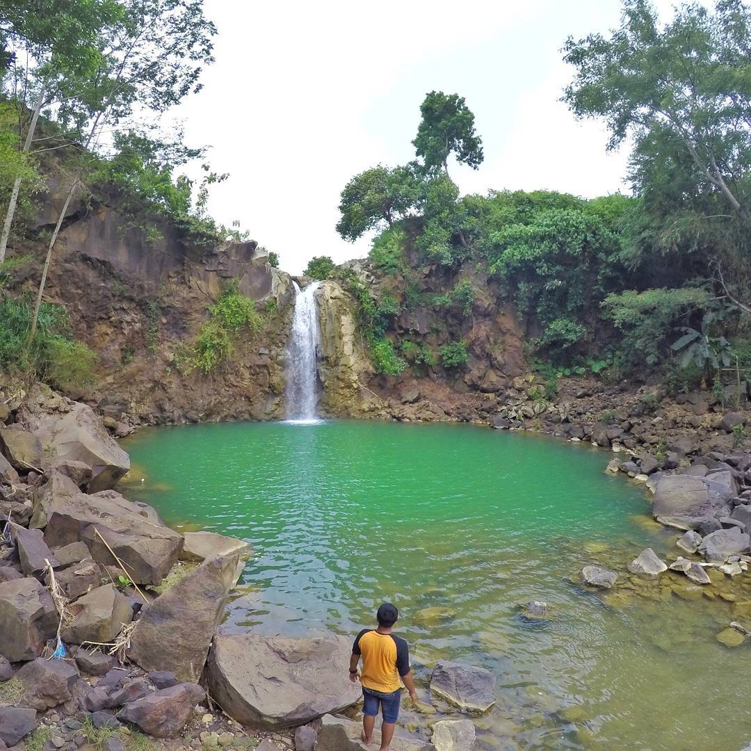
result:
<svg viewBox="0 0 751 751"><path fill-rule="evenodd" d="M683 316L707 305L710 295L701 288L628 290L603 300L605 316L623 331L627 364L654 365L666 351L665 339Z"/></svg>

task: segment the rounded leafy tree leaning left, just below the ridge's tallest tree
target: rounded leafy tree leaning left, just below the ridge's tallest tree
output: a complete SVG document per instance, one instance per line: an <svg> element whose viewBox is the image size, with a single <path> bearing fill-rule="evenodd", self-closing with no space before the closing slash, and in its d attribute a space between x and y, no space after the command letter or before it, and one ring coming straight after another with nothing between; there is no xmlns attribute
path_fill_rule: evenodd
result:
<svg viewBox="0 0 751 751"><path fill-rule="evenodd" d="M336 231L357 240L369 230L391 227L407 216L420 195L414 165L389 169L379 164L355 175L342 190Z"/></svg>

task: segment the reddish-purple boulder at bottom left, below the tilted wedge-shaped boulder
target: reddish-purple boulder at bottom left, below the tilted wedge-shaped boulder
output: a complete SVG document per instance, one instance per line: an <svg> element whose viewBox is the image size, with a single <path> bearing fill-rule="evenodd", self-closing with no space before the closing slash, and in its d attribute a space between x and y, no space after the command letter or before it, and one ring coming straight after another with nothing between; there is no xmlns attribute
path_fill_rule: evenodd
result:
<svg viewBox="0 0 751 751"><path fill-rule="evenodd" d="M201 686L178 683L127 704L118 717L156 738L173 738L182 732L193 707L205 698Z"/></svg>

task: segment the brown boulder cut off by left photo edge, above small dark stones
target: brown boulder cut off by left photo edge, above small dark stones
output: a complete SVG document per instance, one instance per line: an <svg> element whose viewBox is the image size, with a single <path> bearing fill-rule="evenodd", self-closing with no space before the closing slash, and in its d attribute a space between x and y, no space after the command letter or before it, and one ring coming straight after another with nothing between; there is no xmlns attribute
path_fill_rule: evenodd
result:
<svg viewBox="0 0 751 751"><path fill-rule="evenodd" d="M0 654L11 662L38 657L57 633L58 616L50 593L34 578L0 584Z"/></svg>

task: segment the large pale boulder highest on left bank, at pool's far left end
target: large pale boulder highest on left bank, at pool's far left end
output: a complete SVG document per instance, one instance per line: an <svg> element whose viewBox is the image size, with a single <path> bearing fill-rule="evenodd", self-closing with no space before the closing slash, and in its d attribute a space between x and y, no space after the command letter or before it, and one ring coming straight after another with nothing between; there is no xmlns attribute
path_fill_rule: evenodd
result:
<svg viewBox="0 0 751 751"><path fill-rule="evenodd" d="M39 412L26 424L55 460L81 462L92 469L89 492L109 490L128 472L131 460L91 407L74 402L68 412Z"/></svg>

